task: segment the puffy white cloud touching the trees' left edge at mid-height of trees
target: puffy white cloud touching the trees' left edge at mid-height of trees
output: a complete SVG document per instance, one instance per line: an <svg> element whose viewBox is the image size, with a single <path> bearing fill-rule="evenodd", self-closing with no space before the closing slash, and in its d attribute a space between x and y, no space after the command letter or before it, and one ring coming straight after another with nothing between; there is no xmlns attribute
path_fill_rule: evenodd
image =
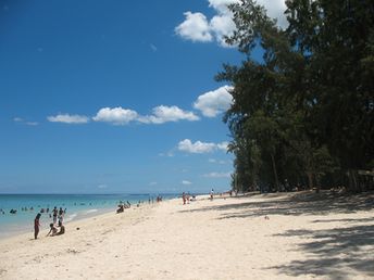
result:
<svg viewBox="0 0 374 280"><path fill-rule="evenodd" d="M194 107L200 110L207 117L215 117L220 113L227 111L233 103L233 97L229 93L232 89L230 86L223 86L203 93L194 103Z"/></svg>

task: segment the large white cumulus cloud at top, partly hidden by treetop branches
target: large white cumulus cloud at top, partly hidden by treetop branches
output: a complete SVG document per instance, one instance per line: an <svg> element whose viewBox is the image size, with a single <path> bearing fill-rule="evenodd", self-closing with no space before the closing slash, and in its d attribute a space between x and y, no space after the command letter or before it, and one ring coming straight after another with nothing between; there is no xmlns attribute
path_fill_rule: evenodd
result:
<svg viewBox="0 0 374 280"><path fill-rule="evenodd" d="M175 33L186 40L200 42L215 40L222 47L229 47L224 37L233 34L235 24L227 5L237 2L239 0L209 0L209 7L214 9L216 13L211 20L199 12L186 12L184 13L185 21L175 27ZM258 3L265 7L267 15L276 18L280 27L287 26L287 20L284 15L285 0L258 0Z"/></svg>

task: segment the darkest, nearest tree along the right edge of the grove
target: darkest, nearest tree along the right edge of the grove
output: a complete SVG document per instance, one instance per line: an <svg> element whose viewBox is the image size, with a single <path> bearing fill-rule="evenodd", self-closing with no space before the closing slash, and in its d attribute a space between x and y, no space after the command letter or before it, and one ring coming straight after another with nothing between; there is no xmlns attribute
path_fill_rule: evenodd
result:
<svg viewBox="0 0 374 280"><path fill-rule="evenodd" d="M374 154L374 2L287 1L287 34L308 62L314 140L326 144L348 170L357 190L357 169Z"/></svg>

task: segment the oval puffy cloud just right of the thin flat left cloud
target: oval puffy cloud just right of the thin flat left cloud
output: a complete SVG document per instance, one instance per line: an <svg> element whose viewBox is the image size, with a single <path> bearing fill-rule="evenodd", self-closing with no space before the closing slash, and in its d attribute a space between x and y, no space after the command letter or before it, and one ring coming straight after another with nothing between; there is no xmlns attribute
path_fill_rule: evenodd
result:
<svg viewBox="0 0 374 280"><path fill-rule="evenodd" d="M113 125L126 125L138 118L138 113L123 107L103 107L100 109L92 119L95 122L111 123Z"/></svg>

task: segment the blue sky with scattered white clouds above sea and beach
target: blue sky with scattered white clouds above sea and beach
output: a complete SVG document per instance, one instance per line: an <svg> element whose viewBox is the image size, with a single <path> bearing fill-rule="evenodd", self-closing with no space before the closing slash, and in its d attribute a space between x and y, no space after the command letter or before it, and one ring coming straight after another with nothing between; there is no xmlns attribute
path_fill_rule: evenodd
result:
<svg viewBox="0 0 374 280"><path fill-rule="evenodd" d="M0 193L229 190L233 1L0 0Z"/></svg>

